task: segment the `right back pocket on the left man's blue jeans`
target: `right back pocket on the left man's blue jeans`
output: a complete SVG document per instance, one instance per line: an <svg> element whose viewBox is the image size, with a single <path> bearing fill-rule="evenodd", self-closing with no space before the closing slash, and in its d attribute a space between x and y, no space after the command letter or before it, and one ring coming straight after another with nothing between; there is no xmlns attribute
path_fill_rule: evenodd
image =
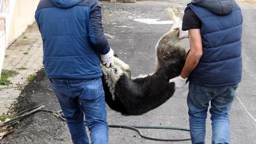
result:
<svg viewBox="0 0 256 144"><path fill-rule="evenodd" d="M81 102L95 101L101 96L100 78L94 78L87 80L86 82L77 84L76 87L80 90L81 95L79 96Z"/></svg>

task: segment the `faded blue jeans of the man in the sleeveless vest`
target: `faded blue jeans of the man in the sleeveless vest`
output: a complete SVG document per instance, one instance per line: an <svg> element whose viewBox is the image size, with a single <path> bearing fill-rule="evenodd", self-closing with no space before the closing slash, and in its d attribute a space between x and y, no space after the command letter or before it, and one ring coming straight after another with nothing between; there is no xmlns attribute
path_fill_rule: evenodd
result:
<svg viewBox="0 0 256 144"><path fill-rule="evenodd" d="M228 112L237 96L237 87L206 87L189 83L187 105L192 144L205 144L205 120L210 101L212 144L230 143Z"/></svg>

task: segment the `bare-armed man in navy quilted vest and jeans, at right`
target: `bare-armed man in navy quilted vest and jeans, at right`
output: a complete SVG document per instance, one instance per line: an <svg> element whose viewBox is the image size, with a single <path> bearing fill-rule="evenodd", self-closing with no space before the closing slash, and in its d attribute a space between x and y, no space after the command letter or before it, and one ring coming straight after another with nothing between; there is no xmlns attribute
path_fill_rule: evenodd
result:
<svg viewBox="0 0 256 144"><path fill-rule="evenodd" d="M169 82L182 88L189 78L192 144L205 144L210 101L212 144L230 143L228 112L242 76L242 22L241 9L234 0L193 0L185 9L182 26L173 26L180 29L180 39L189 35L190 52L184 68Z"/></svg>

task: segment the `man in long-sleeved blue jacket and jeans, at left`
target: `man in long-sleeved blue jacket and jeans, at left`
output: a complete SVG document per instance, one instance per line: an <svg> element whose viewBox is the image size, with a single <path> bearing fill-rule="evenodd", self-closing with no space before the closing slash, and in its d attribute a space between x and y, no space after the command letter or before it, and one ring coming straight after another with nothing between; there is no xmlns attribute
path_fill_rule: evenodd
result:
<svg viewBox="0 0 256 144"><path fill-rule="evenodd" d="M108 143L107 112L99 55L114 64L98 0L41 0L35 19L43 40L47 78L67 119L74 144Z"/></svg>

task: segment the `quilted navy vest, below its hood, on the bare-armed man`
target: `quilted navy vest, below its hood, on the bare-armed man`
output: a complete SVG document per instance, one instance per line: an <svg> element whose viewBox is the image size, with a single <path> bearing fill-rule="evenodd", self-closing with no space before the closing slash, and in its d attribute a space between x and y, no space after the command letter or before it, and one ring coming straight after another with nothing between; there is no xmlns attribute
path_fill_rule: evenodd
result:
<svg viewBox="0 0 256 144"><path fill-rule="evenodd" d="M190 81L204 86L237 85L242 77L241 9L227 15L217 15L201 6L189 4L202 22L203 55L190 74Z"/></svg>

